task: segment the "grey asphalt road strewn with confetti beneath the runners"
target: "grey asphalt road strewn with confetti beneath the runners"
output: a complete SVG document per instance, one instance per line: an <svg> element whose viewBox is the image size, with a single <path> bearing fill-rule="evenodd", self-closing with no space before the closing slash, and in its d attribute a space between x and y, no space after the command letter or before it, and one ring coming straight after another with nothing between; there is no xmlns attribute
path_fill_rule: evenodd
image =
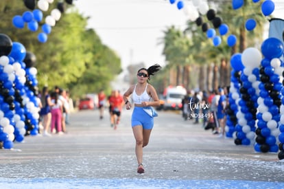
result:
<svg viewBox="0 0 284 189"><path fill-rule="evenodd" d="M105 113L72 113L67 134L26 136L0 150L0 188L284 188L276 153L236 146L173 111L158 111L139 175L131 111L117 130Z"/></svg>

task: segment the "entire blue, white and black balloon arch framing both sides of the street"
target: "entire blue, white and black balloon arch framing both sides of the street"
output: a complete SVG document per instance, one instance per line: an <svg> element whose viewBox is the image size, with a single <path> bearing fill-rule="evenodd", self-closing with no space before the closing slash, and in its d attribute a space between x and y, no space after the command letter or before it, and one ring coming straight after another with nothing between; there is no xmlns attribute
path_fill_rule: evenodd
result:
<svg viewBox="0 0 284 189"><path fill-rule="evenodd" d="M54 0L24 0L29 10L12 18L16 28L27 28L31 32L38 30L43 20L43 12L49 9ZM259 0L252 0L259 3ZM60 1L51 14L45 16L45 23L37 36L40 43L46 43L52 27L64 12L64 3ZM229 34L229 28L208 3L200 0L187 2L169 0L178 10L185 10L189 20L202 27L206 37L215 47L226 37L229 47L235 46L237 37ZM244 5L244 0L232 0L233 10ZM261 3L263 16L274 11L274 2ZM204 16L208 22L204 22ZM209 23L211 22L211 24ZM210 27L213 25L213 27ZM257 22L250 18L246 21L246 30L255 29ZM255 151L278 153L284 159L284 88L283 88L283 41L270 37L263 41L261 51L249 47L230 58L232 66L229 109L226 122L226 136L233 137L235 144L254 145ZM263 57L263 58L262 58ZM25 135L38 134L38 81L35 67L36 56L27 52L19 42L12 42L9 36L0 34L0 142L3 148L10 149L13 142L22 142Z"/></svg>

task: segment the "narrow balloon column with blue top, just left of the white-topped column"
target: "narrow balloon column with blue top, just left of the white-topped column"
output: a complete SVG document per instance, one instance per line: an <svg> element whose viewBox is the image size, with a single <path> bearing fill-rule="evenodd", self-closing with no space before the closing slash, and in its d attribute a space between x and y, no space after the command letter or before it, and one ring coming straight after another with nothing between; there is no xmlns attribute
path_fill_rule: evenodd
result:
<svg viewBox="0 0 284 189"><path fill-rule="evenodd" d="M235 126L237 125L237 111L239 102L239 88L241 87L241 71L244 69L243 63L241 63L241 54L234 54L230 58L230 65L233 70L231 71L230 77L230 93L229 93L229 107L227 110L226 119L226 137L233 137L235 133Z"/></svg>

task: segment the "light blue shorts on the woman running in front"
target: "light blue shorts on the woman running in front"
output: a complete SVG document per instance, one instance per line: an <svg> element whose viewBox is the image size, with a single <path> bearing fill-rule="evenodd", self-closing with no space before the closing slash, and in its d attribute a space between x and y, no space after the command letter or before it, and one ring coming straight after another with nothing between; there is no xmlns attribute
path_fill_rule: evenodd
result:
<svg viewBox="0 0 284 189"><path fill-rule="evenodd" d="M153 129L154 118L148 115L143 110L143 107L134 107L131 117L131 125L132 127L142 125L143 129Z"/></svg>

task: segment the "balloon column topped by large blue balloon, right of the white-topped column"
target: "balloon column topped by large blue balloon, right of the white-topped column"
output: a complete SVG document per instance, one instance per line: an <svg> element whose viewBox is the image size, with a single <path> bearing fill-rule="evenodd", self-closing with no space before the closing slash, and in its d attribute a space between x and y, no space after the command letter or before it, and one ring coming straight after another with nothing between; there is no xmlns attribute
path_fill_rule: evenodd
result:
<svg viewBox="0 0 284 189"><path fill-rule="evenodd" d="M277 38L268 38L262 43L261 52L264 58L259 70L261 83L259 84L255 151L277 153L279 151L277 137L281 139L279 135L280 113L284 112L280 109L283 62L279 59L283 56L283 43ZM282 140L281 143L283 142Z"/></svg>

